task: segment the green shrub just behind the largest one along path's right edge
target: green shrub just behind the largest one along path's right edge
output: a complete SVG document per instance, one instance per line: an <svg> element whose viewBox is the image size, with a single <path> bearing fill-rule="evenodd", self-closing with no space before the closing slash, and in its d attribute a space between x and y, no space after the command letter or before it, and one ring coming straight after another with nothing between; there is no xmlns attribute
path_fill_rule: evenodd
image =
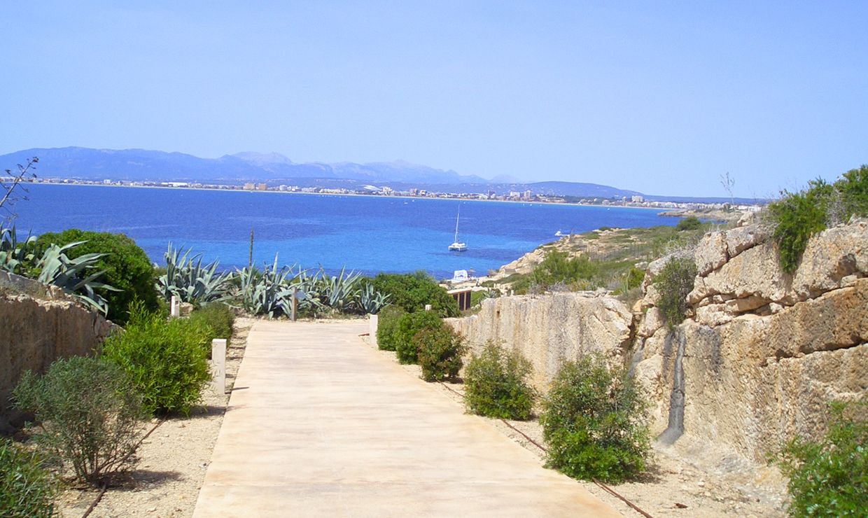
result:
<svg viewBox="0 0 868 518"><path fill-rule="evenodd" d="M527 378L533 367L518 351L503 351L489 343L470 357L464 370L467 410L480 416L526 420L536 392Z"/></svg>

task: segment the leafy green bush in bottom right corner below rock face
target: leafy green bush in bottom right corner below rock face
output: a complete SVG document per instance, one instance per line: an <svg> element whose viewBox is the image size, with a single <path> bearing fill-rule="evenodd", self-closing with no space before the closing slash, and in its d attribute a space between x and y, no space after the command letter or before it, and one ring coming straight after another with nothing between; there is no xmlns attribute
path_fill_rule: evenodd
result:
<svg viewBox="0 0 868 518"><path fill-rule="evenodd" d="M868 512L868 397L832 403L829 430L817 442L794 439L779 457L790 478L793 516L865 516Z"/></svg>

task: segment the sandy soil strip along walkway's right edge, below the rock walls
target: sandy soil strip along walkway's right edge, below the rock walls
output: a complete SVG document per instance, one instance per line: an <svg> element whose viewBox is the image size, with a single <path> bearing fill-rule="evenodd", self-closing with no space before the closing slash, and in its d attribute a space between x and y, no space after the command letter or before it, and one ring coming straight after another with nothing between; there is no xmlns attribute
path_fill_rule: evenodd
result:
<svg viewBox="0 0 868 518"><path fill-rule="evenodd" d="M371 338L366 337L365 343L378 351ZM391 351L378 353L395 358L395 353ZM395 361L398 361L397 358ZM422 370L418 365L403 367L409 375L419 378L418 383L425 383L420 378ZM464 406L463 384L431 384L431 387ZM509 421L513 427L510 428L499 419L478 418L532 451L540 457L541 463L545 462L545 453L537 446L540 444L544 447L545 442L542 439L542 427L536 420ZM641 516L595 483L576 483L618 509L622 515ZM786 481L777 469L757 466L729 456L725 451L709 449L704 444L687 443L683 439L671 447L654 444L651 468L640 480L609 485L609 488L653 516L786 516Z"/></svg>

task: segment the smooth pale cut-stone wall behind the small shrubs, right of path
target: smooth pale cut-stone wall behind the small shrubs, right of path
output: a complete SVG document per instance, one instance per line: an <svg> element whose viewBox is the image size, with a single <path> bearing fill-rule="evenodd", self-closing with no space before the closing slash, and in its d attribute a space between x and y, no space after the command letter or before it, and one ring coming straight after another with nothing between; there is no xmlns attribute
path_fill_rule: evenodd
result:
<svg viewBox="0 0 868 518"><path fill-rule="evenodd" d="M595 293L489 298L477 315L447 318L470 347L488 341L521 351L534 366L533 384L545 391L565 360L599 352L624 361L632 314L620 300Z"/></svg>

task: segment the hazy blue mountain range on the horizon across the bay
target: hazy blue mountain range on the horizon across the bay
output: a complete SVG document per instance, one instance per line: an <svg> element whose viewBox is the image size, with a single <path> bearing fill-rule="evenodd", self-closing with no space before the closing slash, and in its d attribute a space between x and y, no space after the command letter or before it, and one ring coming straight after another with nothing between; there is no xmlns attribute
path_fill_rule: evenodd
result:
<svg viewBox="0 0 868 518"><path fill-rule="evenodd" d="M507 176L486 180L406 161L357 164L339 162L296 163L282 154L238 153L216 159L192 154L166 153L147 149L33 148L0 155L0 167L11 168L31 157L39 157L36 174L48 178L80 180L188 181L238 184L265 182L269 186L288 184L301 187L359 188L371 184L397 190L409 187L442 192L486 192L531 190L534 193L567 196L631 196L636 191L593 183L542 181L523 183Z"/></svg>

